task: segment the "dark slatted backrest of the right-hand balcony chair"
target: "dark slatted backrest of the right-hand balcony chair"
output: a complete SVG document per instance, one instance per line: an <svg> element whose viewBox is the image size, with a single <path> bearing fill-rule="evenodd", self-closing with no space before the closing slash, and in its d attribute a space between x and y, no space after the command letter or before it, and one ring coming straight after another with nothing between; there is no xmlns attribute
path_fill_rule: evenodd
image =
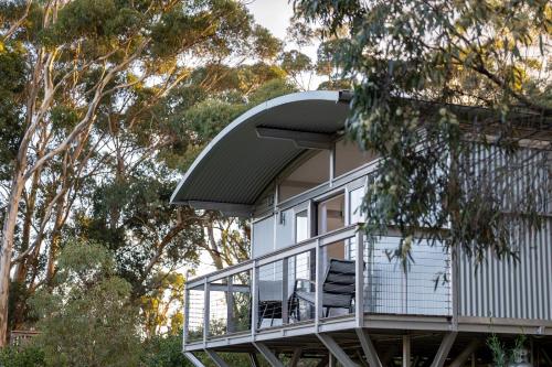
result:
<svg viewBox="0 0 552 367"><path fill-rule="evenodd" d="M322 291L325 293L350 295L352 299L357 278L354 262L354 260L330 259Z"/></svg>

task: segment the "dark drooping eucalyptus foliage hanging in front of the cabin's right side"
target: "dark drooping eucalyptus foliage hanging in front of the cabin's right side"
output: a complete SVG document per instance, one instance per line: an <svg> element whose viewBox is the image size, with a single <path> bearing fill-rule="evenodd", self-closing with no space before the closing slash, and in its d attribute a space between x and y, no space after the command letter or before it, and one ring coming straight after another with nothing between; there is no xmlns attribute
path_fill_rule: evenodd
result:
<svg viewBox="0 0 552 367"><path fill-rule="evenodd" d="M353 82L349 136L385 158L364 201L368 233L395 225L404 239L393 255L403 260L421 229L479 260L488 250L514 255L513 231L539 227L535 214L552 192L545 150L527 160L517 153L528 139L546 141L552 132L550 1L294 6L297 19L339 40L331 63ZM496 166L465 180L475 179L477 162L467 162L475 149L482 149L479 163ZM538 176L523 174L528 163ZM513 193L519 184L522 195Z"/></svg>

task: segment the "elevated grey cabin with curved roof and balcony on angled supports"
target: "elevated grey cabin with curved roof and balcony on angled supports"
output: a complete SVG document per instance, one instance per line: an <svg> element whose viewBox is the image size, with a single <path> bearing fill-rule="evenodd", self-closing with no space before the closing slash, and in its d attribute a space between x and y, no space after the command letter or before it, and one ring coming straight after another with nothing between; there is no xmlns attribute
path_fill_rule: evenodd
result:
<svg viewBox="0 0 552 367"><path fill-rule="evenodd" d="M520 241L519 262L489 255L476 269L466 253L422 240L404 272L388 257L399 233L369 245L358 230L379 158L343 138L349 100L308 91L264 102L229 125L180 182L173 203L252 227L250 260L188 281L187 357L195 366L195 352L217 366L220 352L247 353L252 365L262 355L272 366L475 366L490 361L485 341L497 333L534 336L531 361L552 366L552 193L540 193L543 225ZM552 154L520 154L539 162L512 173L527 183L512 188L521 195L552 180Z"/></svg>

